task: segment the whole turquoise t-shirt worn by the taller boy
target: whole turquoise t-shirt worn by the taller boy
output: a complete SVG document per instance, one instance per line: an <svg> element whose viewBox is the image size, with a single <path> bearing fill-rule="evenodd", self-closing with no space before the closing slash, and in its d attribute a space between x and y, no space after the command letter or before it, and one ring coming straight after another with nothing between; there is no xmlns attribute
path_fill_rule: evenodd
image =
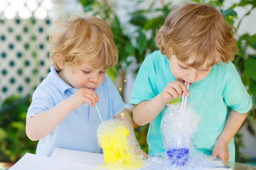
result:
<svg viewBox="0 0 256 170"><path fill-rule="evenodd" d="M130 104L150 100L160 94L169 82L175 81L169 60L155 51L143 61L131 93ZM195 133L195 147L211 155L218 136L221 134L229 108L238 113L247 113L252 108L252 100L247 93L235 65L219 63L214 65L207 77L189 86L189 100L195 112L201 117ZM166 109L150 122L148 129L149 155L163 153L163 135L160 122ZM235 144L232 139L228 144L229 161L235 161Z"/></svg>

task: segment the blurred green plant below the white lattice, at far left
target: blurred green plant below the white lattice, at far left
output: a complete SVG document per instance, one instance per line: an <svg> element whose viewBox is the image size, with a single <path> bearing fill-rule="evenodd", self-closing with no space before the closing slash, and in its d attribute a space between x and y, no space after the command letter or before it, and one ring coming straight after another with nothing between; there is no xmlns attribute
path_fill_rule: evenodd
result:
<svg viewBox="0 0 256 170"><path fill-rule="evenodd" d="M25 153L35 153L37 142L26 136L26 112L31 97L10 96L0 109L0 162L18 161Z"/></svg>

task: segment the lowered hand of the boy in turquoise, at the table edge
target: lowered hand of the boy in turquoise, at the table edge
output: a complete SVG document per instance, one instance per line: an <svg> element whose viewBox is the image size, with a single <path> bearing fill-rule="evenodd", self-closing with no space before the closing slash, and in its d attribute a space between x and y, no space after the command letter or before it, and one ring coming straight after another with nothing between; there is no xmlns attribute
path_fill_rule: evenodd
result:
<svg viewBox="0 0 256 170"><path fill-rule="evenodd" d="M230 159L227 144L216 142L213 150L212 150L212 156L218 157L221 161L228 161Z"/></svg>

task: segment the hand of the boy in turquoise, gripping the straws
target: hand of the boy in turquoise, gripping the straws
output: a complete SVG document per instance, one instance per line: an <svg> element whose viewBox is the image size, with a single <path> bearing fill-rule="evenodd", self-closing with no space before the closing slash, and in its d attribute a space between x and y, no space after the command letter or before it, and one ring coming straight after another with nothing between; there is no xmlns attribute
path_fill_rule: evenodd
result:
<svg viewBox="0 0 256 170"><path fill-rule="evenodd" d="M189 90L182 82L173 81L166 85L166 88L163 89L160 96L162 97L163 102L168 103L172 99L182 96L183 92L189 96Z"/></svg>

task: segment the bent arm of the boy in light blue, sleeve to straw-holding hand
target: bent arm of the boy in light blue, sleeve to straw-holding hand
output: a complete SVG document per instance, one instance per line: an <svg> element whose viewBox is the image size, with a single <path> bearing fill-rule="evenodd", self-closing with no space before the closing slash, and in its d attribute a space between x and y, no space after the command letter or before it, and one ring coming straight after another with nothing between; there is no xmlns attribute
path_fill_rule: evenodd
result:
<svg viewBox="0 0 256 170"><path fill-rule="evenodd" d="M83 103L95 105L99 102L97 94L89 89L79 89L68 99L54 106L52 96L38 88L33 94L27 113L26 134L32 141L47 136L74 109Z"/></svg>

